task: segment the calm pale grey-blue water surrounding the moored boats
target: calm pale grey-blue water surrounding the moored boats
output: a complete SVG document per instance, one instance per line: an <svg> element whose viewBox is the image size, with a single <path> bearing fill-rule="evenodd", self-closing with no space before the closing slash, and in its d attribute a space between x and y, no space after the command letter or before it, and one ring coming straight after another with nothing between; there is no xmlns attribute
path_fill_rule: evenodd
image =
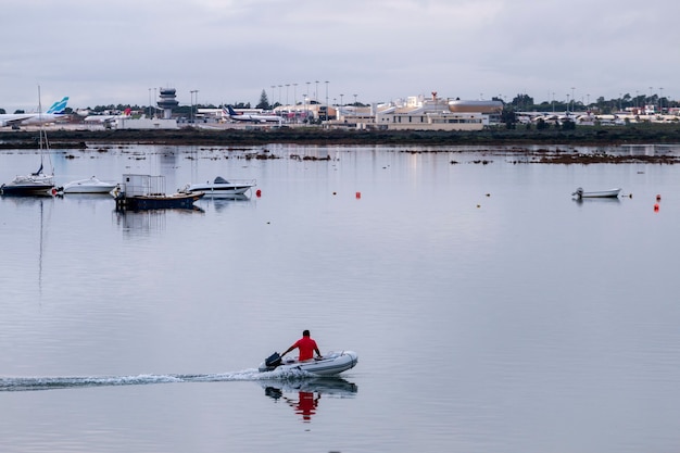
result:
<svg viewBox="0 0 680 453"><path fill-rule="evenodd" d="M197 211L0 199L1 451L678 451L680 167L259 151L52 155L60 184L257 179ZM3 151L0 181L38 165ZM358 365L263 379L305 328Z"/></svg>

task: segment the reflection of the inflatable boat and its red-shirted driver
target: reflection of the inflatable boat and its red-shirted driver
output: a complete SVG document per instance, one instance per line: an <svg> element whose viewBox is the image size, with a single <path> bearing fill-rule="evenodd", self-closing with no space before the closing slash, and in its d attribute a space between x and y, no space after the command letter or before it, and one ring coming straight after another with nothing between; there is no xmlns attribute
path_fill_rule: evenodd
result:
<svg viewBox="0 0 680 453"><path fill-rule="evenodd" d="M355 383L342 378L310 378L284 381L260 381L264 394L275 402L284 401L298 414L303 423L312 421L322 395L330 398L354 398ZM287 394L292 393L292 395Z"/></svg>

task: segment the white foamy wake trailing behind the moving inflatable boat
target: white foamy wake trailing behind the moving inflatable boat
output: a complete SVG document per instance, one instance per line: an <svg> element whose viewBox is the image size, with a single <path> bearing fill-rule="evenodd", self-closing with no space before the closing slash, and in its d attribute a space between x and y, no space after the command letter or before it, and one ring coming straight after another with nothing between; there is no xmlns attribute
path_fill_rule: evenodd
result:
<svg viewBox="0 0 680 453"><path fill-rule="evenodd" d="M0 392L179 382L278 381L280 383L315 379L317 379L315 375L301 370L260 373L256 368L224 374L197 375L0 377Z"/></svg>

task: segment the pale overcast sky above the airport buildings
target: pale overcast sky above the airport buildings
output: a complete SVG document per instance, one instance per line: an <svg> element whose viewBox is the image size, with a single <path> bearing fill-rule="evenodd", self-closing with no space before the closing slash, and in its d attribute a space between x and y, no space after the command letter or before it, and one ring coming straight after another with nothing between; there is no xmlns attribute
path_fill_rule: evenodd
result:
<svg viewBox="0 0 680 453"><path fill-rule="evenodd" d="M159 87L254 105L279 85L292 103L317 80L322 102L678 99L679 18L678 0L11 1L0 108L36 110L38 85L43 108L148 105Z"/></svg>

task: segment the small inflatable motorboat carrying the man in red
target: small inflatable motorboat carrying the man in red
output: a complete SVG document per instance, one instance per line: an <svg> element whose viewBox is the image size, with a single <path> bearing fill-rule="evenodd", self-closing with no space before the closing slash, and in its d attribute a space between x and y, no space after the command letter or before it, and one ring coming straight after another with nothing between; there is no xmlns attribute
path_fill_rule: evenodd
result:
<svg viewBox="0 0 680 453"><path fill-rule="evenodd" d="M260 364L261 373L264 372L306 372L317 376L333 376L353 368L358 362L358 355L354 351L328 352L323 358L310 358L300 362L294 358L281 360L275 352Z"/></svg>

